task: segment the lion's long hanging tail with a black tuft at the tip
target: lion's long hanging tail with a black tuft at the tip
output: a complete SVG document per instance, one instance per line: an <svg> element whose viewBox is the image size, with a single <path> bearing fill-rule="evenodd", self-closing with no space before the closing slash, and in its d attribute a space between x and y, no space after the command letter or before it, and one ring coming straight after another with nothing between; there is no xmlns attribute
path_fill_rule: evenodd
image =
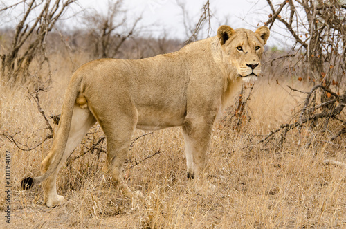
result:
<svg viewBox="0 0 346 229"><path fill-rule="evenodd" d="M22 190L28 190L34 185L38 185L39 183L42 183L42 181L45 181L46 178L48 178L48 176L51 176L51 174L57 169L57 167L62 162L62 157L64 156L64 150L66 148L67 143L67 138L64 138L64 136L69 136L73 114L73 106L80 91L81 82L82 77L80 75L73 75L71 81L69 82L69 86L66 89L57 134L54 136L53 145L51 148L51 150L57 150L57 154L55 154L55 157L53 157L51 165L49 165L48 170L41 176L37 176L34 178L24 178L21 181Z"/></svg>

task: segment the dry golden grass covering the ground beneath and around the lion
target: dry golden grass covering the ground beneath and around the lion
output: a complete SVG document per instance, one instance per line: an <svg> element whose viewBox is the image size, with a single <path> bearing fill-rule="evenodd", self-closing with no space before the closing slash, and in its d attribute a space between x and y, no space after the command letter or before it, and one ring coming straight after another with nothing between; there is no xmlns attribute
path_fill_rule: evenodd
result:
<svg viewBox="0 0 346 229"><path fill-rule="evenodd" d="M79 65L84 59L75 57ZM52 62L57 68L51 89L40 95L46 113L60 113L68 75L75 65ZM276 84L262 79L255 85L249 103L251 122L239 131L227 121L215 125L208 153L208 179L217 186L215 194L200 196L189 188L186 178L183 137L180 128L155 131L139 138L131 147L125 165L127 183L141 190L143 199L131 201L100 171L105 155L86 154L62 167L57 190L68 201L56 208L43 204L42 187L26 192L17 186L21 178L39 174L51 140L31 152L23 152L0 136L1 174L5 149L12 153L12 220L8 228L345 228L346 172L324 165L325 158L346 161L345 138L331 143L336 134L312 136L310 147L297 150L298 133L291 131L282 147L275 139L268 145L255 145L253 134L268 134L288 122L300 95L286 90L288 82ZM297 82L298 89L309 85ZM35 145L46 135L45 123L26 88L0 88L1 133L15 134L26 145ZM227 120L227 119L226 119ZM333 124L332 124L333 125ZM56 127L56 126L54 126ZM95 126L84 145L73 156L90 147L102 131ZM147 132L136 131L134 138ZM309 135L309 137L308 137ZM252 140L251 140L252 139ZM303 131L302 145L311 140ZM132 167L149 154L162 151ZM4 176L1 175L1 187ZM1 210L5 194L0 192ZM1 217L0 228L8 226Z"/></svg>

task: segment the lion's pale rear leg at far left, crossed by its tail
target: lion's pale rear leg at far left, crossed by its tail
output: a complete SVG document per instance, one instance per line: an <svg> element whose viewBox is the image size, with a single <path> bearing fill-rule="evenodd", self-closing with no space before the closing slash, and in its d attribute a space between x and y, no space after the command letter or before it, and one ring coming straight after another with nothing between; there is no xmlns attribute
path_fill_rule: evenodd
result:
<svg viewBox="0 0 346 229"><path fill-rule="evenodd" d="M62 163L71 155L73 149L78 146L82 138L85 136L87 131L95 124L96 120L93 117L92 113L87 108L80 108L79 106L73 107L73 116L71 120L71 127L69 136L66 143L65 149L57 149L53 143L53 147L49 154L44 158L44 161L41 163L41 173L44 174L48 170L48 167L51 165L51 162L55 159L57 154L64 150L64 155L60 165L58 165L57 170L49 176L46 181L44 181L44 202L48 207L58 205L64 201L63 196L57 195L56 179L57 172L60 170ZM54 141L61 141L64 139L56 138Z"/></svg>

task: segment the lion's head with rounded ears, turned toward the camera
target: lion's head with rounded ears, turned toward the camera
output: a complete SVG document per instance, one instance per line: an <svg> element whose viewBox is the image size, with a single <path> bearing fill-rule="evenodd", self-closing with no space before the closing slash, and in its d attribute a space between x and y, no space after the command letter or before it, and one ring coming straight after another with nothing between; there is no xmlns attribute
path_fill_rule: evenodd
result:
<svg viewBox="0 0 346 229"><path fill-rule="evenodd" d="M270 31L266 26L255 32L244 28L233 29L230 26L220 26L217 30L221 56L224 64L237 71L236 75L245 82L257 80L261 73L261 58L264 44ZM236 69L234 69L236 68Z"/></svg>

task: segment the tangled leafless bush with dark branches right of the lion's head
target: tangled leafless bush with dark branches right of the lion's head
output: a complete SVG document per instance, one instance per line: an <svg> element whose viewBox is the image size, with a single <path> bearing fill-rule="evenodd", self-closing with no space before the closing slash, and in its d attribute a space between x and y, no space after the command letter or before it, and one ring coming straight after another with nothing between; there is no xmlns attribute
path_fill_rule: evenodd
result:
<svg viewBox="0 0 346 229"><path fill-rule="evenodd" d="M346 102L346 5L341 1L285 0L277 6L267 0L271 8L266 25L271 28L276 21L283 24L291 33L294 44L289 55L278 59L291 59L290 71L302 68L315 86L306 94L301 110L295 113L291 124L281 125L272 131L260 143L271 140L273 135L281 133L280 144L284 143L289 130L298 128L301 141L302 127L309 131L325 133L332 128L331 120L341 126L340 134L345 131L346 121L343 108ZM272 63L273 63L272 61ZM297 80L302 80L302 77ZM331 139L336 136L331 136ZM307 144L309 146L311 140Z"/></svg>

